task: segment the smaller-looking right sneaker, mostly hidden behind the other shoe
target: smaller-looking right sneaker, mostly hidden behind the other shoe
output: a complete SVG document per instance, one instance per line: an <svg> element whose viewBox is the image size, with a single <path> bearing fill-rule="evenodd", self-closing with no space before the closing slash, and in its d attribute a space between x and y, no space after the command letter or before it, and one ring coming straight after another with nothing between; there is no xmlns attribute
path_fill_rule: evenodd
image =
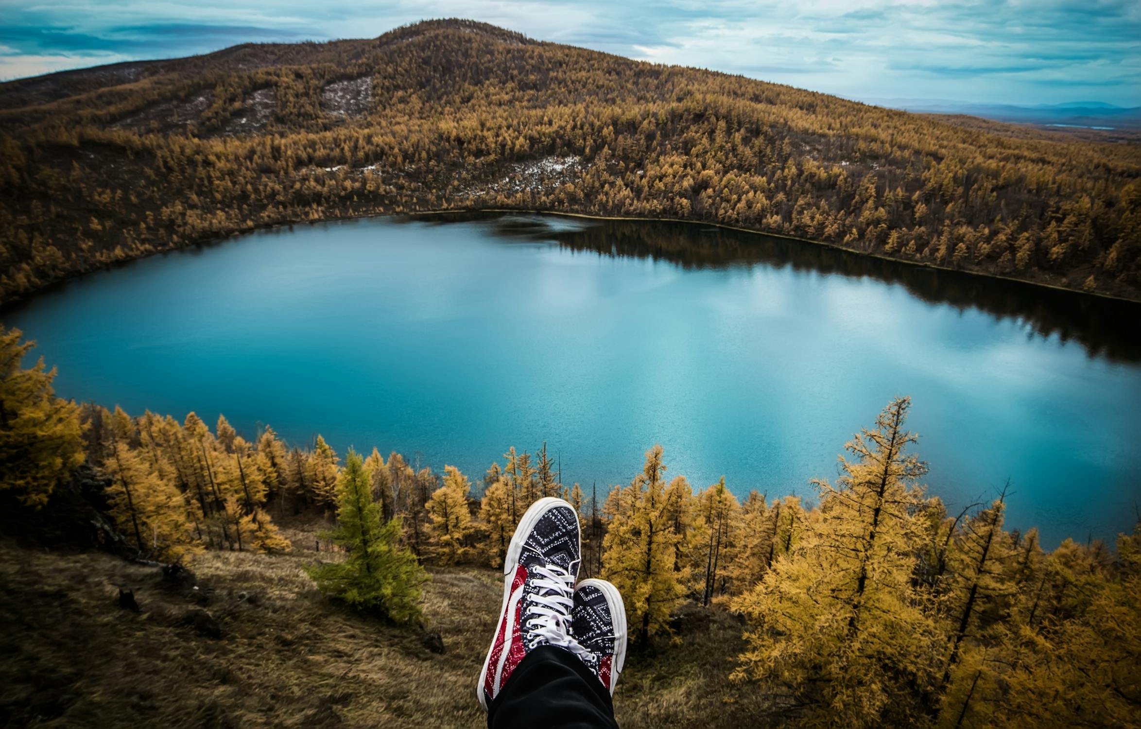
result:
<svg viewBox="0 0 1141 729"><path fill-rule="evenodd" d="M613 696L626 661L626 608L618 589L605 580L580 582L570 609L570 632L586 649L580 658Z"/></svg>

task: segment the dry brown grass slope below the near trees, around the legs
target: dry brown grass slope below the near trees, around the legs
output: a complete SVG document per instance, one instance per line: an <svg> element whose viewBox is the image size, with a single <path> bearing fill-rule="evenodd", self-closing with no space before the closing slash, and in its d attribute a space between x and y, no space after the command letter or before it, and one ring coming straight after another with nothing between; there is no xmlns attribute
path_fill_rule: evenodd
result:
<svg viewBox="0 0 1141 729"><path fill-rule="evenodd" d="M291 536L301 543L310 530ZM484 724L474 691L500 604L494 570L432 575L424 613L443 635L445 653L437 655L415 630L322 598L302 572L314 558L204 554L194 565L205 593L200 607L153 567L0 544L0 723ZM119 588L135 590L140 613L119 606ZM187 625L201 609L221 638ZM622 726L755 726L762 706L754 692L727 681L741 626L722 610L691 607L678 629L680 646L628 659L615 697Z"/></svg>

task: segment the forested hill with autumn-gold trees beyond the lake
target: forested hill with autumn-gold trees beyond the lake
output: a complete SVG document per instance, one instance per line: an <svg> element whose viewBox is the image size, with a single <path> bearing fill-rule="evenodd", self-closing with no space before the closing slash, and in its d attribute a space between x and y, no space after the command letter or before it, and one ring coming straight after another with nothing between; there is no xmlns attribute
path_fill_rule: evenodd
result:
<svg viewBox="0 0 1141 729"><path fill-rule="evenodd" d="M1141 147L974 128L467 21L0 86L0 300L283 222L713 221L1141 298Z"/></svg>

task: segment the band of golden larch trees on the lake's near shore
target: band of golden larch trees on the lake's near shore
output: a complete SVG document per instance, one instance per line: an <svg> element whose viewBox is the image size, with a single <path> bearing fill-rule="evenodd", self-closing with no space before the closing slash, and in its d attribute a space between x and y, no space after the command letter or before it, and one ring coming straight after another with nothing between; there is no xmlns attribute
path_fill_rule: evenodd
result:
<svg viewBox="0 0 1141 729"><path fill-rule="evenodd" d="M207 553L286 559L277 523L323 516L335 525L316 544L326 561L307 568L321 591L416 624L434 573L499 568L527 505L555 495L578 511L582 576L624 596L628 665L685 653L687 606L739 621L742 650L726 658L756 697L751 722L1141 722L1141 528L1116 551L1045 551L1035 529L1004 525L1005 488L948 511L923 485L906 397L844 444L810 503L690 484L661 446L628 484L584 489L560 483L545 445L471 478L377 448L338 454L319 436L286 444L268 427L246 439L224 416L211 428L57 398L54 370L22 365L30 348L0 335L0 500L5 532L44 546L94 525L102 549L165 569ZM74 516L76 494L92 512Z"/></svg>

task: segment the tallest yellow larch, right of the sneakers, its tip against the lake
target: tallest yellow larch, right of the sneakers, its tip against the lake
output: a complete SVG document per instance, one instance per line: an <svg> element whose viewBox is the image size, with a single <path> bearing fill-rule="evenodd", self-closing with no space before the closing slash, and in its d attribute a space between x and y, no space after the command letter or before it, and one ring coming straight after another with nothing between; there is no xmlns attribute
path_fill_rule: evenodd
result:
<svg viewBox="0 0 1141 729"><path fill-rule="evenodd" d="M892 400L847 444L836 483L815 481L817 516L734 600L751 624L734 677L802 705L808 726L911 724L933 710L941 633L912 586L926 467L906 453L908 406Z"/></svg>

